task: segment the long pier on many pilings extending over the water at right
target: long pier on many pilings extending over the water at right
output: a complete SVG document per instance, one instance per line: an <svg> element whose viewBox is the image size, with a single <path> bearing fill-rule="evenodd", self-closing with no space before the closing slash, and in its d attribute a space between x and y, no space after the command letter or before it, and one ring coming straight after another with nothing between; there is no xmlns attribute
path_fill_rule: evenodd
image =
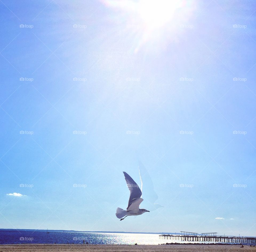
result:
<svg viewBox="0 0 256 252"><path fill-rule="evenodd" d="M162 234L159 239L172 240L175 242L213 242L213 243L247 243L256 244L256 237L245 236L217 236L217 233L195 233L180 231L181 234Z"/></svg>

